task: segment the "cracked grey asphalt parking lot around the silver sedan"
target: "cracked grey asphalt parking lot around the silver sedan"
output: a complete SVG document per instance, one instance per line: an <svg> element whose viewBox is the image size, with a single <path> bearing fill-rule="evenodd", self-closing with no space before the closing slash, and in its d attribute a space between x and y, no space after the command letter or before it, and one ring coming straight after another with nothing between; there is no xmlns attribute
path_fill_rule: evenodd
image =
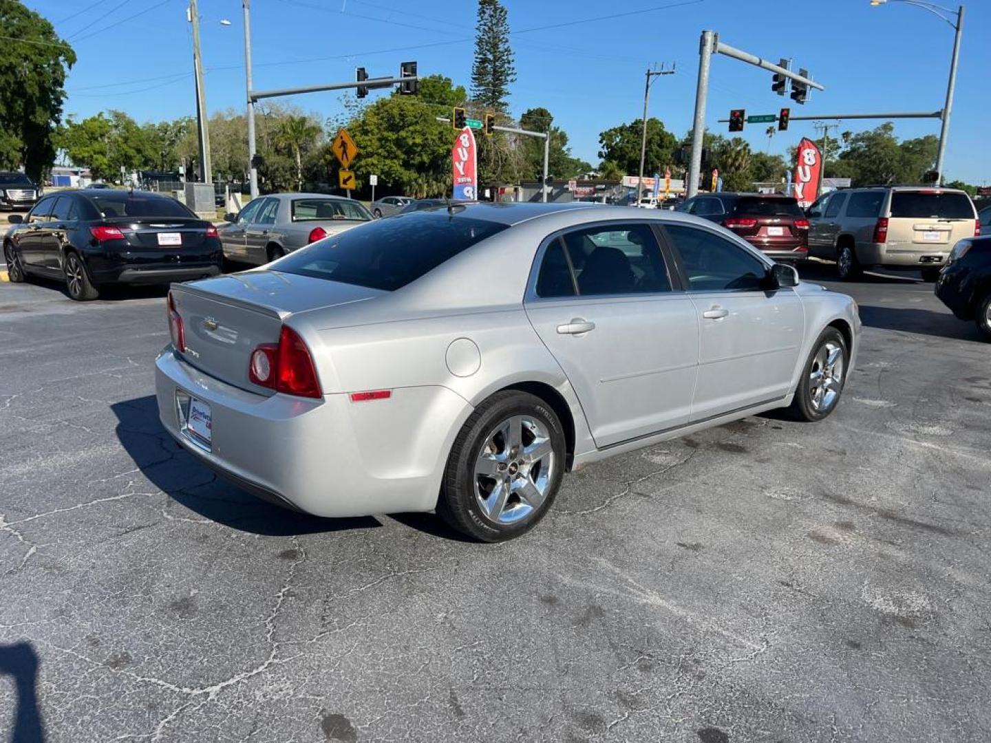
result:
<svg viewBox="0 0 991 743"><path fill-rule="evenodd" d="M158 423L164 292L0 283L0 741L986 741L991 346L807 272L865 325L829 419L591 466L495 546L217 480Z"/></svg>

